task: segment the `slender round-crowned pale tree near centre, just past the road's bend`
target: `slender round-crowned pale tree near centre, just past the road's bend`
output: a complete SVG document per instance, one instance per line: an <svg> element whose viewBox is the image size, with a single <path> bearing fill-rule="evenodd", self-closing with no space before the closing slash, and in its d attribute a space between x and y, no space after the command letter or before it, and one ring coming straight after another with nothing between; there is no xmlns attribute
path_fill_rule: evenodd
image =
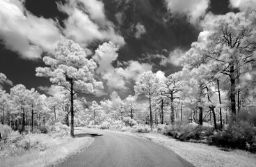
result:
<svg viewBox="0 0 256 167"><path fill-rule="evenodd" d="M143 72L140 75L139 80L136 81L134 86L136 95L145 95L150 103L150 127L152 129L152 98L155 97L159 90L159 79L152 71Z"/></svg>

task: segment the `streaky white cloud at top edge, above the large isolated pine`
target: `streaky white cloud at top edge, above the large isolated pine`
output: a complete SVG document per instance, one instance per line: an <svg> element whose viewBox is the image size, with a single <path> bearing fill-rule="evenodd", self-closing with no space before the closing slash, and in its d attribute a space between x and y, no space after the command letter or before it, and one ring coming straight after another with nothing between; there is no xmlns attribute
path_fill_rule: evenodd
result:
<svg viewBox="0 0 256 167"><path fill-rule="evenodd" d="M79 6L78 2L83 6ZM70 3L59 3L58 8L69 15L63 32L67 38L79 42L83 47L95 39L111 40L120 47L125 45L124 38L115 32L113 23L106 19L102 1L72 0Z"/></svg>

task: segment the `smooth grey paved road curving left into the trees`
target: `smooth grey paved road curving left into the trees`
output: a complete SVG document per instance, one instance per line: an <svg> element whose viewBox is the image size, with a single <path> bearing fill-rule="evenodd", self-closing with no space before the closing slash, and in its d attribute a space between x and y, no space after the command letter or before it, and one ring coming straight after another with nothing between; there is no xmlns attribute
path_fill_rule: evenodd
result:
<svg viewBox="0 0 256 167"><path fill-rule="evenodd" d="M61 167L179 167L193 166L177 154L152 141L100 129L81 128L77 137L91 135L95 141Z"/></svg>

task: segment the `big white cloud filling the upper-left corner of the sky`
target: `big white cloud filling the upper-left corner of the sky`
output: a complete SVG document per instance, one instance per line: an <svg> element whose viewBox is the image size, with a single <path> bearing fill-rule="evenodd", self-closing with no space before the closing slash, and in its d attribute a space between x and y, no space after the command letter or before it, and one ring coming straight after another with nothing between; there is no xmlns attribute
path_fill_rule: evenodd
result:
<svg viewBox="0 0 256 167"><path fill-rule="evenodd" d="M40 58L63 38L53 19L32 15L21 1L3 0L0 6L0 39L22 58Z"/></svg>

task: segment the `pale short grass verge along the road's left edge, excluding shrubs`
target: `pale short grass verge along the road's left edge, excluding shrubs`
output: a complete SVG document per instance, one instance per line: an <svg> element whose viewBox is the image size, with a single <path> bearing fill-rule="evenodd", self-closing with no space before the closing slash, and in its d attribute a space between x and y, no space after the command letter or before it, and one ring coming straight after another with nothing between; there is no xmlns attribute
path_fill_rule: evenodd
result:
<svg viewBox="0 0 256 167"><path fill-rule="evenodd" d="M31 149L17 157L0 157L0 167L54 166L88 148L94 139L63 137L61 134L29 134L28 137L31 142L41 143L42 147Z"/></svg>

